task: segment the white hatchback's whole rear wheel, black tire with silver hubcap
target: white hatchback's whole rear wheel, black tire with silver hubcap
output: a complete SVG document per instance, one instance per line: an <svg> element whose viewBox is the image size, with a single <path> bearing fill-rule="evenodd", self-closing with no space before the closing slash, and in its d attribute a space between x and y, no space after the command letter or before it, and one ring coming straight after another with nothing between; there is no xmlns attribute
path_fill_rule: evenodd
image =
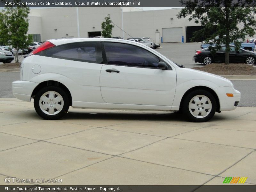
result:
<svg viewBox="0 0 256 192"><path fill-rule="evenodd" d="M60 87L44 87L36 93L34 107L37 114L44 119L59 119L68 111L68 94Z"/></svg>

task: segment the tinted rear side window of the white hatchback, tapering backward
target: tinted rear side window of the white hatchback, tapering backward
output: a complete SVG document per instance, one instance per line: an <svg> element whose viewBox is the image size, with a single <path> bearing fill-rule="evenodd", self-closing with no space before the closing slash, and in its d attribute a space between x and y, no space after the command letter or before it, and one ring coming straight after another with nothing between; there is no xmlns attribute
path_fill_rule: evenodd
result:
<svg viewBox="0 0 256 192"><path fill-rule="evenodd" d="M37 55L88 63L103 63L100 42L79 42L58 45L39 52Z"/></svg>

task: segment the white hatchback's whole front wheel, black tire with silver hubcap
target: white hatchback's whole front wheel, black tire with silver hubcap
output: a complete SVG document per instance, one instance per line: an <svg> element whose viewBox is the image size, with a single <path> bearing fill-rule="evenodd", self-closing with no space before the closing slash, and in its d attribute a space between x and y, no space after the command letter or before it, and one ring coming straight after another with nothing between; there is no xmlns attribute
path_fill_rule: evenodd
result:
<svg viewBox="0 0 256 192"><path fill-rule="evenodd" d="M204 102L204 100L206 97L202 97L202 96L207 97L207 100L205 102ZM198 101L200 101L200 102L195 102L195 100L193 99L194 97L198 97L198 99L199 99ZM201 105L202 102L203 102L203 105ZM195 110L191 109L193 107L189 108L189 104L191 104L191 106L195 106ZM207 109L210 106L211 106L211 109L210 110ZM188 93L182 103L183 113L192 122L209 121L214 116L214 114L216 112L216 107L217 107L216 100L213 97L212 93L210 93L206 90L203 90L203 89L198 89L198 90ZM196 115L196 113L198 113L198 115L197 116L192 115L192 113L194 113L194 112L195 112L195 115Z"/></svg>

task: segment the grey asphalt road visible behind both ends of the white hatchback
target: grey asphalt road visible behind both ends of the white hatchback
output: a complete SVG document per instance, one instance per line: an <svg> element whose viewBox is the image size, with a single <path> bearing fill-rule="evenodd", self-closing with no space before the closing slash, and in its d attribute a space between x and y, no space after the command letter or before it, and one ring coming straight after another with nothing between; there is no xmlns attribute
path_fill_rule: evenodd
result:
<svg viewBox="0 0 256 192"><path fill-rule="evenodd" d="M19 72L0 72L0 98L14 97L12 82L20 79ZM242 93L240 107L256 107L256 80L232 81L235 88Z"/></svg>

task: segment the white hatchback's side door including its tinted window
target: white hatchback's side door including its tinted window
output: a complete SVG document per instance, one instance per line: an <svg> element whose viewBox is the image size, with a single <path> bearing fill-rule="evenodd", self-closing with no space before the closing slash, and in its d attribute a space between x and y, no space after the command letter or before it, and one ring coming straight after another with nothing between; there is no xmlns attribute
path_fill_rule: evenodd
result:
<svg viewBox="0 0 256 192"><path fill-rule="evenodd" d="M105 102L172 105L175 68L157 68L161 59L140 46L105 41L104 49L106 64L101 68L100 89Z"/></svg>

